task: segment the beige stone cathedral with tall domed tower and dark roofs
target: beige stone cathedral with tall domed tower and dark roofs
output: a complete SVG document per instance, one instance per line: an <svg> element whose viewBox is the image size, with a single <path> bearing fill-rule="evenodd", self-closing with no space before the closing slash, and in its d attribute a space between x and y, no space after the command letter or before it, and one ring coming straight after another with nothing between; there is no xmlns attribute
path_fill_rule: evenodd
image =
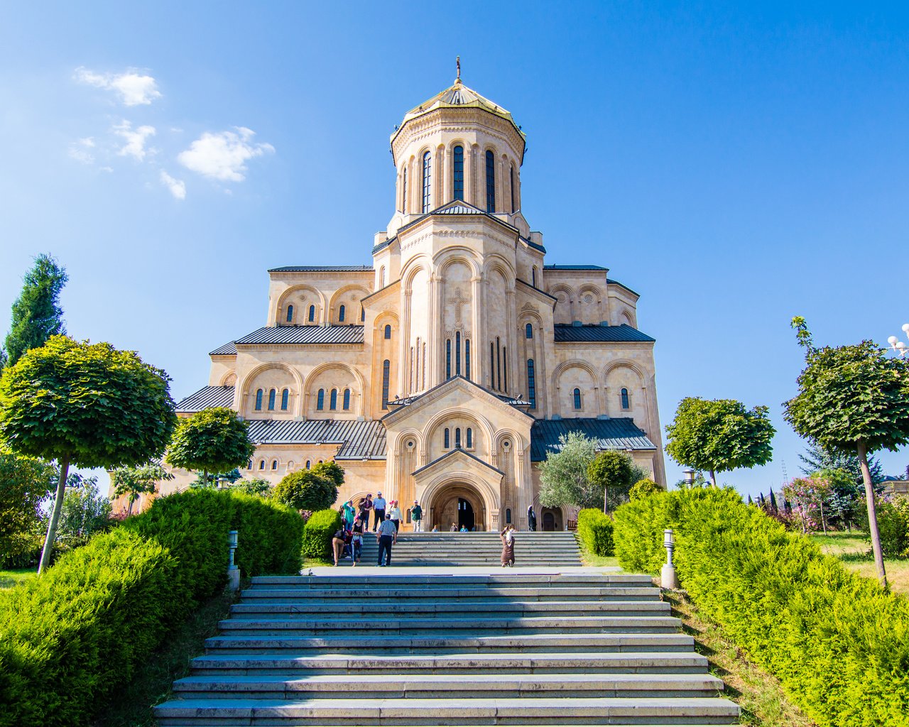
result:
<svg viewBox="0 0 909 727"><path fill-rule="evenodd" d="M546 530L576 512L539 503L537 464L560 435L632 454L665 483L654 339L638 294L597 264L547 264L521 204L525 137L461 82L408 111L391 137L395 213L370 265L268 271L263 328L211 352L209 385L180 415L234 408L277 483L325 460L338 503L381 492L410 530ZM164 492L194 476L177 472Z"/></svg>

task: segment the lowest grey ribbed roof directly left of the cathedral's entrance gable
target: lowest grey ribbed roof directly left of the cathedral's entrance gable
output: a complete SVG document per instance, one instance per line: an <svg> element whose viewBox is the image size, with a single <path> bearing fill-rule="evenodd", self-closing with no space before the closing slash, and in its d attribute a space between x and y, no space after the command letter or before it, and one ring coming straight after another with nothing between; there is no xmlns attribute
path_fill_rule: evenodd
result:
<svg viewBox="0 0 909 727"><path fill-rule="evenodd" d="M257 444L340 444L338 460L385 457L385 424L378 421L251 419L249 437Z"/></svg>

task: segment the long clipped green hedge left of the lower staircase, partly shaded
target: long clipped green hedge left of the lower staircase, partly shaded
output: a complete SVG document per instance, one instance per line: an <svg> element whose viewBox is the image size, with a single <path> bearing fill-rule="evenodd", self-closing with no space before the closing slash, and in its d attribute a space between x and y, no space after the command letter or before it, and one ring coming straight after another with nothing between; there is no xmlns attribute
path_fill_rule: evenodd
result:
<svg viewBox="0 0 909 727"><path fill-rule="evenodd" d="M0 595L0 725L82 725L167 632L226 581L227 532L245 575L296 573L303 520L249 495L189 490Z"/></svg>

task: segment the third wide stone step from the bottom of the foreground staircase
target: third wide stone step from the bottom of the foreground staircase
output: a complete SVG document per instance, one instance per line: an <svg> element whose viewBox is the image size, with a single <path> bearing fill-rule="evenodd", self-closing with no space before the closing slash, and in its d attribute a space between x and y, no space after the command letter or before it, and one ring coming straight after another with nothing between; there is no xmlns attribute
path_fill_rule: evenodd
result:
<svg viewBox="0 0 909 727"><path fill-rule="evenodd" d="M237 656L212 653L193 660L196 675L383 674L507 672L515 674L568 673L704 673L707 659L694 652L551 652L407 654L402 656Z"/></svg>

